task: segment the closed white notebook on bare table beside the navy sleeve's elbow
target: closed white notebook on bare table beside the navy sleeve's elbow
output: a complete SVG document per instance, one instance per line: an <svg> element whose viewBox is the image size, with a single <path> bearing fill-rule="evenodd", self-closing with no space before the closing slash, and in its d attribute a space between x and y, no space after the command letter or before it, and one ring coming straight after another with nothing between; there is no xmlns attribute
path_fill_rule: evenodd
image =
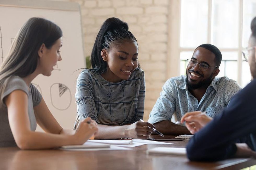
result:
<svg viewBox="0 0 256 170"><path fill-rule="evenodd" d="M156 147L147 150L147 153L167 154L167 155L186 155L186 148L170 148L170 147Z"/></svg>

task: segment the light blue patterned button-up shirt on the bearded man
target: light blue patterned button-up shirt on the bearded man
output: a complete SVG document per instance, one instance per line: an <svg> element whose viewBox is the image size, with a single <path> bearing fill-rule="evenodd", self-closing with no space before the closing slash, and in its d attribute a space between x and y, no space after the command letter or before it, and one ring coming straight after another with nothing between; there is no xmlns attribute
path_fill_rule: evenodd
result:
<svg viewBox="0 0 256 170"><path fill-rule="evenodd" d="M215 77L198 102L188 91L186 79L186 76L182 75L165 82L160 97L150 112L148 122L157 123L163 120L175 122L191 111L206 111L208 116L214 117L227 107L232 96L241 90L235 80Z"/></svg>

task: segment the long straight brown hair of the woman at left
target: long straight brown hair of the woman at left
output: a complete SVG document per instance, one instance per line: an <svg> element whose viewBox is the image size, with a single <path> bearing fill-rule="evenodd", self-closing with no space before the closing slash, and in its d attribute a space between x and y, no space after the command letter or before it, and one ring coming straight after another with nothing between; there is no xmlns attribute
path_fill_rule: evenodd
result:
<svg viewBox="0 0 256 170"><path fill-rule="evenodd" d="M50 49L62 37L62 30L44 18L30 18L19 30L0 67L0 95L12 76L26 77L37 67L38 50L44 43ZM0 101L0 106L2 106Z"/></svg>

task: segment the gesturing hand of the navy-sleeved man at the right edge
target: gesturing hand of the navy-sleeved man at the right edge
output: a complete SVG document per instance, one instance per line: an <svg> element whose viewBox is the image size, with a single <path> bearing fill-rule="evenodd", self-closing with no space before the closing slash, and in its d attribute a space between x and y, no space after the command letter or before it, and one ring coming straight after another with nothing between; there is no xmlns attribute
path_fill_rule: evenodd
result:
<svg viewBox="0 0 256 170"><path fill-rule="evenodd" d="M181 118L181 123L185 123L191 134L197 133L200 129L205 127L213 118L207 116L205 112L194 111L188 112Z"/></svg>

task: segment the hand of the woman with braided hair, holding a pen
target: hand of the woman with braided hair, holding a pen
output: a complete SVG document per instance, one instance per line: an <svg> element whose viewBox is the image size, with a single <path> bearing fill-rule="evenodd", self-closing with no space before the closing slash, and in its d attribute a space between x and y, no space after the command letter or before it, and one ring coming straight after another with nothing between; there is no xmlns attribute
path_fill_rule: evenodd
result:
<svg viewBox="0 0 256 170"><path fill-rule="evenodd" d="M148 122L137 121L127 127L125 136L135 139L147 139L155 126Z"/></svg>

